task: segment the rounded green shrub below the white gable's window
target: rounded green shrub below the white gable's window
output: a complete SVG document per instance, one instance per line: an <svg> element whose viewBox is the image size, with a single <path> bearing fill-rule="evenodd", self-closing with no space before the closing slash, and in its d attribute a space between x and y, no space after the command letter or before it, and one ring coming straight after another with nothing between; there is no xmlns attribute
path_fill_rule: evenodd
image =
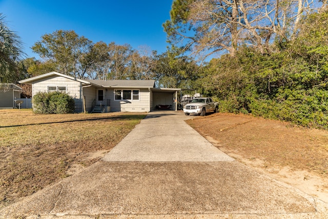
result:
<svg viewBox="0 0 328 219"><path fill-rule="evenodd" d="M60 92L39 92L33 96L33 112L37 114L67 114L74 112L74 99Z"/></svg>

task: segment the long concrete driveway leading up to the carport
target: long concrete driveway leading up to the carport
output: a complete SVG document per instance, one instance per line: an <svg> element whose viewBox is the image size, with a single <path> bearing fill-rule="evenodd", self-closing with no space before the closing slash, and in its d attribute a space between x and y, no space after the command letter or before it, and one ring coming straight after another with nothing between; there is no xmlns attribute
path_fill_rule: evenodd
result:
<svg viewBox="0 0 328 219"><path fill-rule="evenodd" d="M1 218L328 218L327 204L234 161L184 120L151 112L103 160Z"/></svg>

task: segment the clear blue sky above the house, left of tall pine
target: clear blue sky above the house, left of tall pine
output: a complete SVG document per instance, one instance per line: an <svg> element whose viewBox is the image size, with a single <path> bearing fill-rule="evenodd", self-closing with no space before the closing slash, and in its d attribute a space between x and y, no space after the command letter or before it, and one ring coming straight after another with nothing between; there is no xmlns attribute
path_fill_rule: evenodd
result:
<svg viewBox="0 0 328 219"><path fill-rule="evenodd" d="M92 42L149 46L166 51L162 24L170 19L172 0L0 0L0 12L9 28L24 43L27 57L36 57L31 47L41 36L56 30L74 30Z"/></svg>

